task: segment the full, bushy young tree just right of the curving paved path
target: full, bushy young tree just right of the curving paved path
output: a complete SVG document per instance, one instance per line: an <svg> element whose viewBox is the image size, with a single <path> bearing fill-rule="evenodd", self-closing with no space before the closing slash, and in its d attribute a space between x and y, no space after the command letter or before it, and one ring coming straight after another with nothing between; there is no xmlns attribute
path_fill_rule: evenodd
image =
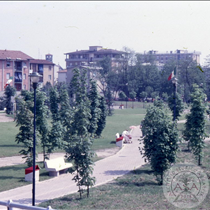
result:
<svg viewBox="0 0 210 210"><path fill-rule="evenodd" d="M141 154L145 157L154 174L163 182L163 173L175 162L178 149L178 131L171 118L158 106L149 107L142 125L144 133L143 149ZM146 160L145 159L145 160Z"/></svg>

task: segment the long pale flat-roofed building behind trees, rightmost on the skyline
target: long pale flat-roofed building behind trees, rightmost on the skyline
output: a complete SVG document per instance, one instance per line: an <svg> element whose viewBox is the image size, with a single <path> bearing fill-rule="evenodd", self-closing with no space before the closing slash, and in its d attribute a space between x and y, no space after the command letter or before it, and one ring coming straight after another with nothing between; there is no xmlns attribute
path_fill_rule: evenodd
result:
<svg viewBox="0 0 210 210"><path fill-rule="evenodd" d="M200 55L201 53L198 51L188 51L188 50L176 50L176 51L166 51L166 52L158 52L158 51L148 51L141 54L143 57L143 62L147 63L149 56L152 56L155 59L155 62L159 65L164 65L170 60L180 61L192 58L197 64L200 64Z"/></svg>

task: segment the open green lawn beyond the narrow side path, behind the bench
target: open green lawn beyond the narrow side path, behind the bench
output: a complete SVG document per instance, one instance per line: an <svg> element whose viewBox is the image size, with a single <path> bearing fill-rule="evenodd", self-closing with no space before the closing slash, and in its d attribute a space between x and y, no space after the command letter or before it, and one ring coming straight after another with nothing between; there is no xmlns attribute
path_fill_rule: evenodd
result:
<svg viewBox="0 0 210 210"><path fill-rule="evenodd" d="M140 125L145 113L146 109L114 110L114 115L107 117L107 124L102 137L94 141L93 149L99 150L115 147L113 143L115 134L122 133L123 130L129 129L131 125ZM15 136L18 131L19 129L16 127L15 122L0 123L0 157L19 155L19 151L23 146L15 142ZM42 149L38 146L37 151L41 153ZM58 152L62 152L62 150Z"/></svg>

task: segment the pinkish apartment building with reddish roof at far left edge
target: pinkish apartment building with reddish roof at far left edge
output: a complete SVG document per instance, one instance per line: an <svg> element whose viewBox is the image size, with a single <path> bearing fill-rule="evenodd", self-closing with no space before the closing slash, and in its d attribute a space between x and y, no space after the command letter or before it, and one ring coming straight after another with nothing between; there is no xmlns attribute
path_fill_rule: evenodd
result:
<svg viewBox="0 0 210 210"><path fill-rule="evenodd" d="M46 59L49 55L46 55ZM52 59L52 56L51 56ZM40 83L50 81L53 85L54 64L50 60L38 60L31 56L14 50L0 50L0 92L10 84L17 91L30 89L30 69L43 75Z"/></svg>

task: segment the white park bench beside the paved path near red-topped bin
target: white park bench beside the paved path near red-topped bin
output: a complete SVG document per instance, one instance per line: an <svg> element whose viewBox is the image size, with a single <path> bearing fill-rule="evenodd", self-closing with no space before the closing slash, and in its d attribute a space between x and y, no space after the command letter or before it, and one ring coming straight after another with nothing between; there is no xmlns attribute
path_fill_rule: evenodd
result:
<svg viewBox="0 0 210 210"><path fill-rule="evenodd" d="M73 166L72 163L65 163L63 157L46 160L44 164L49 176L59 176Z"/></svg>

